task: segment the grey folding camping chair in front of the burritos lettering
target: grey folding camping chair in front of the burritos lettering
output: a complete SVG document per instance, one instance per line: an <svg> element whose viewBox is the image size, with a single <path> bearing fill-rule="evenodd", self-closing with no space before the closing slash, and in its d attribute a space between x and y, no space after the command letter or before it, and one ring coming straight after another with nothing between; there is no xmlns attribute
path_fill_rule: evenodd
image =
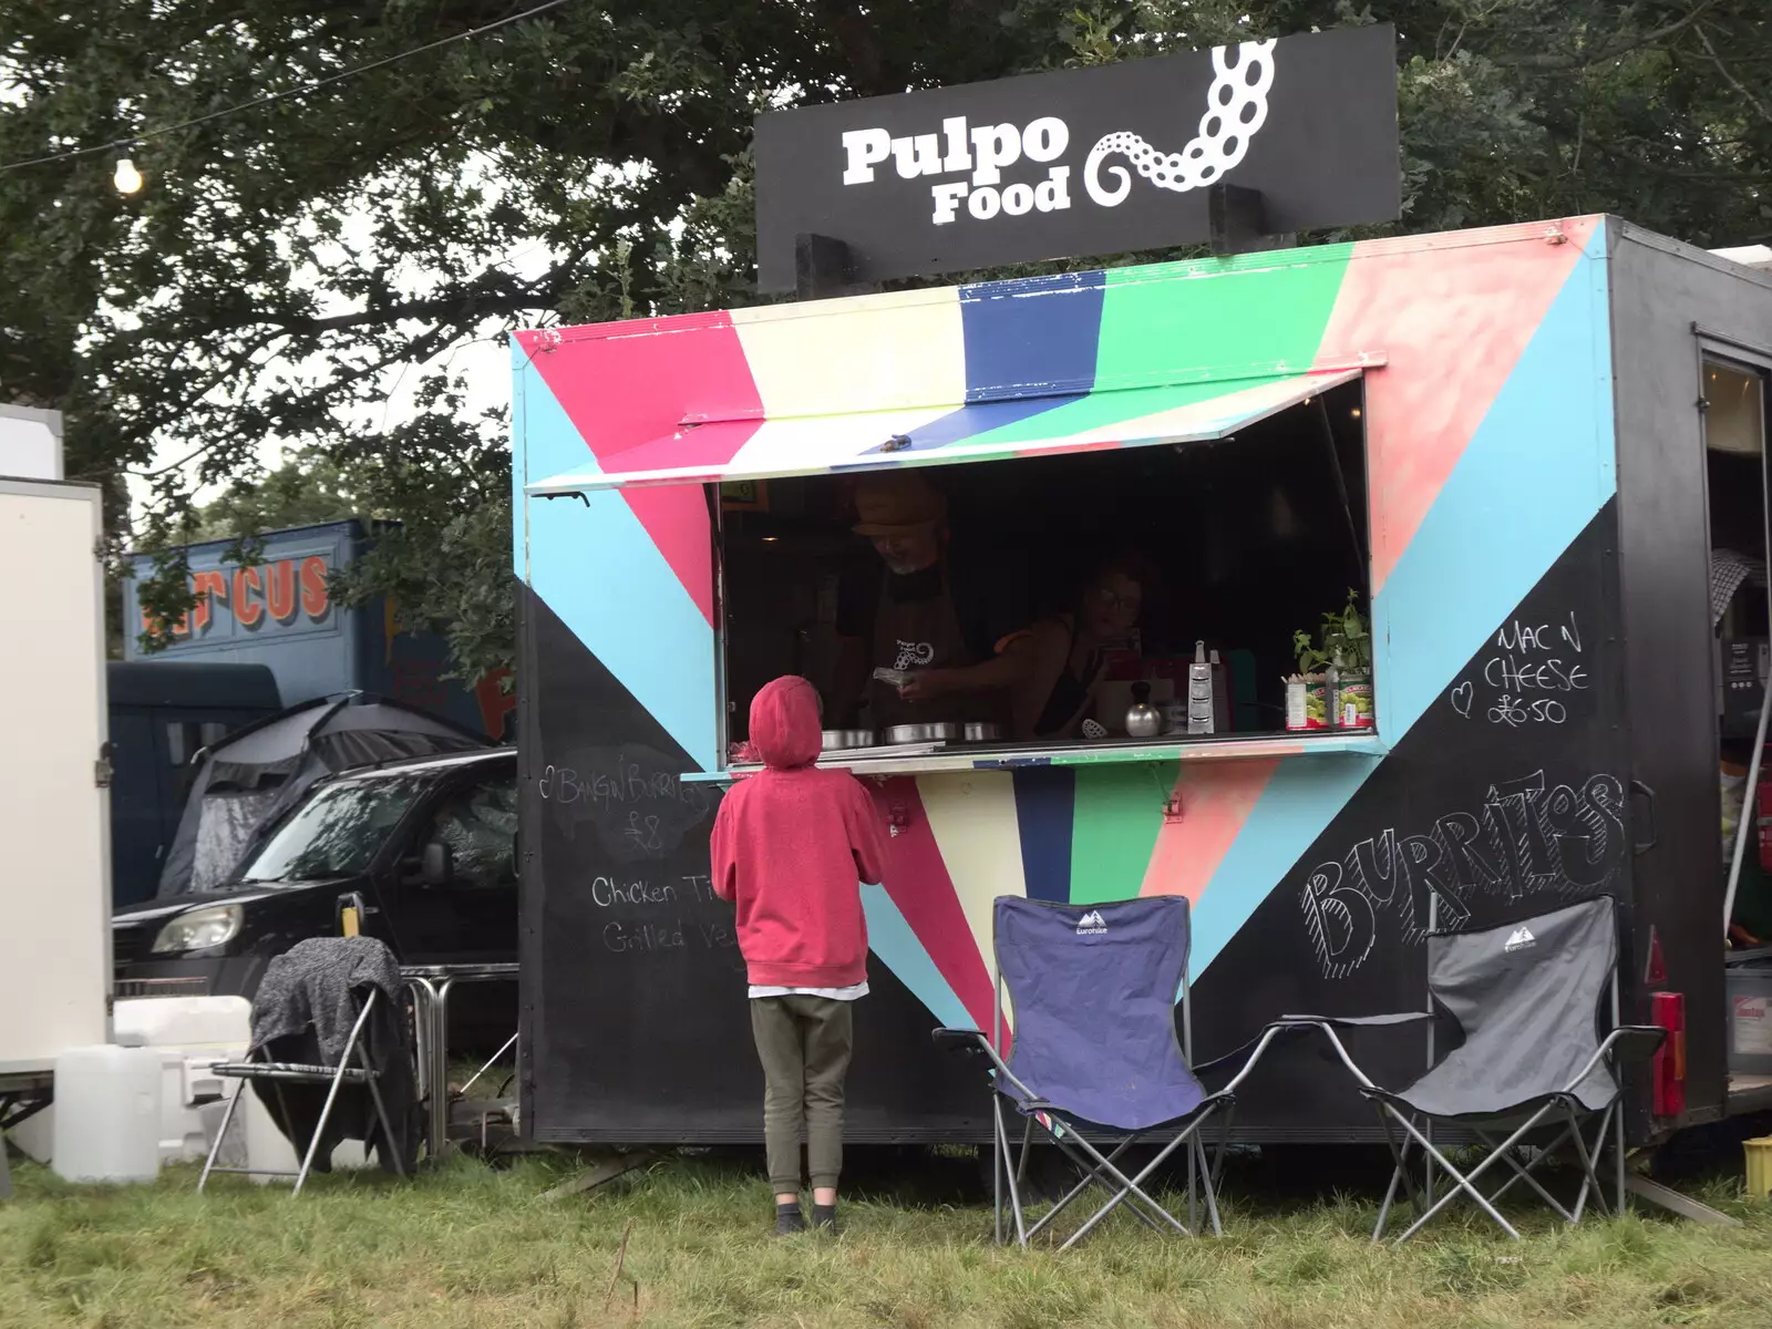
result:
<svg viewBox="0 0 1772 1329"><path fill-rule="evenodd" d="M1526 1182L1565 1221L1579 1223L1591 1196L1607 1210L1597 1166L1611 1136L1616 1166L1616 1210L1625 1207L1625 1116L1618 1070L1652 1056L1664 1031L1618 1022L1618 923L1611 897L1584 900L1522 923L1474 932L1428 932L1426 1012L1333 1019L1288 1015L1271 1028L1317 1028L1359 1081L1377 1108L1396 1170L1379 1209L1372 1239L1384 1237L1398 1187L1409 1193L1416 1221L1396 1239L1409 1240L1460 1194L1471 1196L1488 1217L1519 1240L1496 1201ZM1460 1040L1434 1060L1430 1070L1402 1090L1372 1081L1343 1047L1336 1030L1437 1021L1457 1024ZM1600 1030L1609 1033L1602 1037ZM1434 1145L1434 1125L1474 1134L1487 1155L1458 1171ZM1591 1138L1584 1134L1593 1123ZM1398 1136L1398 1129L1402 1136ZM1581 1164L1582 1182L1574 1209L1565 1209L1533 1173L1563 1145ZM1419 1148L1421 1184L1411 1171ZM1496 1164L1512 1170L1485 1194L1478 1180ZM1434 1200L1434 1168L1453 1185Z"/></svg>

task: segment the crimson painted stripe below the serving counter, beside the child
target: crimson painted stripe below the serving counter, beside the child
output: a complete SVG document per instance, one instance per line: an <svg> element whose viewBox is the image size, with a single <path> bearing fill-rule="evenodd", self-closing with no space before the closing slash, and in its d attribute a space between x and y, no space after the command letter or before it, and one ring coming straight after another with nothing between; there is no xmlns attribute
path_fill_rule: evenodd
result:
<svg viewBox="0 0 1772 1329"><path fill-rule="evenodd" d="M891 776L874 783L874 803L888 824L895 810L905 819L898 835L886 842L886 881L881 882L886 895L898 905L911 934L923 943L936 971L948 980L966 1014L980 1030L989 1030L994 1005L991 973L973 941L973 929L941 858L929 813L923 812L916 778Z"/></svg>

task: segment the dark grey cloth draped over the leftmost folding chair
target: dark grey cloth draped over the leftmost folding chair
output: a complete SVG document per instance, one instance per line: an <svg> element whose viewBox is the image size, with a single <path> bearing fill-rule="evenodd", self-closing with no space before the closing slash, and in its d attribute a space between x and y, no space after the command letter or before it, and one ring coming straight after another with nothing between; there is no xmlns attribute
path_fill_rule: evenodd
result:
<svg viewBox="0 0 1772 1329"><path fill-rule="evenodd" d="M393 952L374 937L308 937L271 960L252 999L252 1045L299 1035L310 1024L321 1056L344 1056L361 1012L358 989L379 989L399 1008L402 982Z"/></svg>

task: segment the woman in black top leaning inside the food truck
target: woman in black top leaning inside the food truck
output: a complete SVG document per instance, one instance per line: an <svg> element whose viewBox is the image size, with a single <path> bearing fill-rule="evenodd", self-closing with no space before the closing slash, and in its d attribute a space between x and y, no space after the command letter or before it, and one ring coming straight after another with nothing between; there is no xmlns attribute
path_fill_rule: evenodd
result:
<svg viewBox="0 0 1772 1329"><path fill-rule="evenodd" d="M1083 588L1077 608L1042 618L999 647L983 664L921 670L907 696L937 696L980 684L1006 686L1017 741L1074 739L1095 709L1106 650L1138 626L1150 574L1139 558L1102 563Z"/></svg>

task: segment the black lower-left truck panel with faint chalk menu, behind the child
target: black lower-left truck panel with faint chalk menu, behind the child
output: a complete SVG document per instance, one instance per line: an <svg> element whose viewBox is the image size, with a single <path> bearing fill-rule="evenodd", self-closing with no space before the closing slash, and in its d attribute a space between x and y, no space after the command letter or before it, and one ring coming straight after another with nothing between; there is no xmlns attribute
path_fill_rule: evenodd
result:
<svg viewBox="0 0 1772 1329"><path fill-rule="evenodd" d="M712 891L716 785L533 594L519 668L523 1111L544 1141L760 1141L732 905ZM985 1138L978 1070L870 959L847 1136Z"/></svg>

